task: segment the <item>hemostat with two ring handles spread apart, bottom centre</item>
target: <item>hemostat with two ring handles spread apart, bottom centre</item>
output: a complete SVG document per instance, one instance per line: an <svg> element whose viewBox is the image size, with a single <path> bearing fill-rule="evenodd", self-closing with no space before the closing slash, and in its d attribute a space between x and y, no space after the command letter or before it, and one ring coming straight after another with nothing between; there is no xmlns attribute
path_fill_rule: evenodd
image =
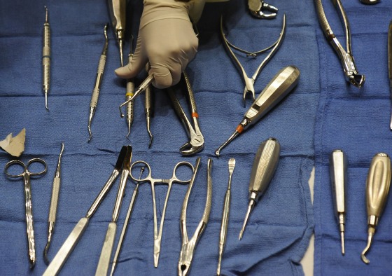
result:
<svg viewBox="0 0 392 276"><path fill-rule="evenodd" d="M142 166L147 168L147 170L148 170L147 177L142 178L142 179L137 179L136 177L134 177L132 175L132 168L137 164L141 164ZM160 256L160 243L162 240L163 223L165 221L166 207L167 207L167 202L169 200L170 190L172 189L172 184L173 183L188 184L191 181L191 179L182 180L176 176L176 170L182 165L190 167L192 169L192 171L195 172L195 169L192 164L183 161L183 162L179 162L176 164L176 166L173 169L173 174L172 174L171 178L169 178L169 179L153 179L153 177L151 177L151 167L150 167L150 165L148 165L148 163L146 163L144 161L137 161L137 162L133 163L131 166L130 177L134 181L137 181L139 183L150 182L150 184L151 184L151 193L153 194L153 214L154 214L154 266L155 266L155 268L158 267L158 261L159 261L159 256ZM157 208L156 208L156 202L155 202L155 184L167 184L167 186L168 186L167 193L166 193L166 199L165 199L165 205L163 206L162 217L160 219L159 232L158 232L158 223L157 223Z"/></svg>

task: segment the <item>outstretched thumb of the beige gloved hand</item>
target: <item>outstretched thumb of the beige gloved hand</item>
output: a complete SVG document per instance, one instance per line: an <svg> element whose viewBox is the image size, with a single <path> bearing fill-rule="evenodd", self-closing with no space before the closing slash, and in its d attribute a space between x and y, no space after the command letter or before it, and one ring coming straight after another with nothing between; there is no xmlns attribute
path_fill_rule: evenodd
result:
<svg viewBox="0 0 392 276"><path fill-rule="evenodd" d="M143 43L141 42L141 36L137 37L137 45L134 51L134 56L132 57L131 62L129 62L124 67L120 67L116 69L114 72L120 78L134 78L139 74L141 69L144 68L144 65L147 63L147 55L144 50Z"/></svg>

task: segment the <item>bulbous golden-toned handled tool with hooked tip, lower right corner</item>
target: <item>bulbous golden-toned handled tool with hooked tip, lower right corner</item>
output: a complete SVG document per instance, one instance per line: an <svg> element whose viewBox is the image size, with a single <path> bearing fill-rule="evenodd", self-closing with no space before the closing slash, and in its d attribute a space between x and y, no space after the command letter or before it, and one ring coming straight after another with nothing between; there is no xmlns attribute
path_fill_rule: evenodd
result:
<svg viewBox="0 0 392 276"><path fill-rule="evenodd" d="M365 254L372 244L379 218L386 205L390 186L391 159L386 153L377 153L370 163L366 179L367 245L360 254L364 263L370 263Z"/></svg>

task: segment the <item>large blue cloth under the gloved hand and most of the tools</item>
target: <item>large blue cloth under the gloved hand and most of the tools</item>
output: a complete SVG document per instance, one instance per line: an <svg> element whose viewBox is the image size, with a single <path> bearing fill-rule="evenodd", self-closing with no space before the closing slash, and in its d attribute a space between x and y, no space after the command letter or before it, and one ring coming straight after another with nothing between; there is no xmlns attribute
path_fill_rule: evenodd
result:
<svg viewBox="0 0 392 276"><path fill-rule="evenodd" d="M236 158L232 179L232 205L228 241L223 255L223 275L302 275L300 260L307 249L314 220L308 179L314 165L314 123L318 103L319 62L315 39L316 17L304 1L271 1L278 6L275 20L257 20L248 14L243 1L208 4L200 20L200 48L188 66L193 83L205 149L202 166L188 203L188 235L199 223L207 190L207 158L214 159L213 198L207 228L196 247L190 275L214 275L218 262L223 198L228 184L228 159ZM44 9L49 9L52 29L52 75L45 111L41 91L41 47ZM141 1L130 1L128 34L137 34ZM227 5L227 6L226 6ZM25 199L22 181L11 181L0 174L0 275L42 275L46 265L42 252L47 239L47 217L61 142L62 186L57 221L49 258L52 259L66 237L85 216L94 198L113 170L121 146L131 144L132 161L145 160L153 177L169 178L181 160L195 163L196 157L183 157L180 146L187 142L185 130L176 118L165 91L155 90L155 118L151 125L154 142L148 149L143 96L135 102L135 118L130 140L118 105L125 99L125 81L113 73L119 67L118 46L109 32L109 52L97 112L92 121L92 141L87 144L87 118L99 55L104 45L103 29L109 20L104 1L0 1L0 137L27 129L26 149L21 160L43 158L48 173L31 179L37 263L29 270L25 233ZM17 7L17 8L15 8ZM260 50L272 44L287 15L286 38L280 50L255 82L256 94L283 67L295 65L301 71L297 88L269 115L241 134L221 153L214 151L235 130L246 109L242 105L244 83L218 33L218 20L225 11L225 29L235 45ZM129 43L125 49L129 48ZM127 52L127 50L125 50ZM248 75L265 55L252 59L239 57ZM136 79L137 84L145 75ZM184 99L181 96L181 100ZM247 100L246 106L250 106ZM276 137L281 159L274 179L256 205L244 237L238 240L248 205L248 183L255 151L262 141ZM0 152L0 166L10 160ZM116 198L118 181L90 220L80 242L62 269L63 275L92 275ZM134 183L129 181L118 221L118 235ZM118 275L175 275L181 249L179 216L187 186L174 184L169 198L158 268L153 267L153 207L151 187L139 189L128 235L120 254ZM156 188L158 219L167 186Z"/></svg>

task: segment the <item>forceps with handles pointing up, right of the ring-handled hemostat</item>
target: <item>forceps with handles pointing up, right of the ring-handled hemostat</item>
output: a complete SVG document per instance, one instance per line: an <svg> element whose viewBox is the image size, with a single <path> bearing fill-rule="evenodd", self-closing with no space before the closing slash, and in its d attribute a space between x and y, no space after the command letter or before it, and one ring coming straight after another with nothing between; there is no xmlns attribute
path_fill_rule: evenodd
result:
<svg viewBox="0 0 392 276"><path fill-rule="evenodd" d="M206 205L204 207L204 213L202 216L202 220L200 221L199 225L197 226L195 233L189 239L188 233L186 230L186 209L188 207L188 200L190 196L190 191L192 190L193 184L195 182L195 177L197 174L197 170L200 165L201 158L197 158L195 171L193 172L192 179L190 180L190 184L188 186L188 191L186 192L184 201L183 201L183 208L181 211L181 219L180 219L180 226L181 226L181 235L183 237L183 242L181 246L180 258L179 258L179 275L186 276L189 273L190 265L193 260L193 254L195 252L195 247L197 241L202 236L204 229L207 226L209 221L209 214L211 212L211 200L212 200L212 178L211 178L211 170L212 170L212 159L209 158L207 163L207 200Z"/></svg>

